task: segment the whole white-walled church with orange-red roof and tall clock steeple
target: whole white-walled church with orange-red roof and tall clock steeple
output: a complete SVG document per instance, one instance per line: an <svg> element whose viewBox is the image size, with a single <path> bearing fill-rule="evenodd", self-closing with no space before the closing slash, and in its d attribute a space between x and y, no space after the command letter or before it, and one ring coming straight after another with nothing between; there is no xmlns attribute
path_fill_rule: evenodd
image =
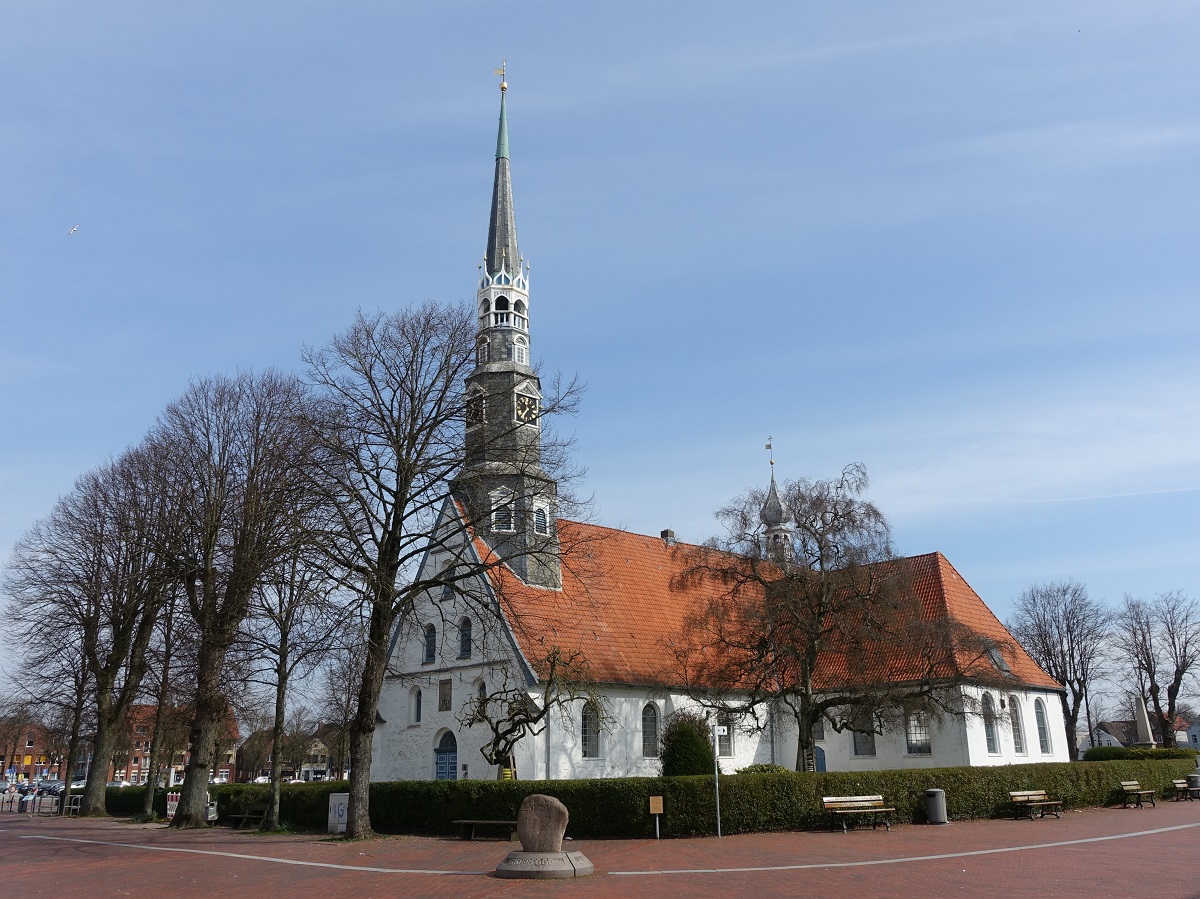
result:
<svg viewBox="0 0 1200 899"><path fill-rule="evenodd" d="M704 587L680 587L695 547L671 532L650 537L559 520L558 489L542 468L544 397L532 366L535 317L529 266L517 245L506 90L502 82L487 245L476 282L476 358L467 377L466 459L452 485L455 499L442 511L444 520L455 520L445 533L460 537L457 545L431 545L418 576L466 557L502 564L479 567L484 574L475 583L424 595L397 625L379 702L372 780L500 777L500 768L480 753L491 731L469 723L470 709L479 697L503 690L540 702L551 651L586 659L592 701L571 699L552 709L539 732L516 743L505 775L656 775L664 723L677 711L700 708L666 649L704 599ZM761 521L768 540L786 539L773 468ZM1004 685L983 687L962 665L950 672L947 689L960 691L979 714L908 721L869 739L818 730L816 768L1066 761L1070 744L1061 685L941 553L906 563L922 615L1010 647L996 661ZM887 652L895 654L889 670L902 670L907 648ZM798 735L790 715L760 718L755 726L727 724L718 745L724 772L756 762L794 767Z"/></svg>

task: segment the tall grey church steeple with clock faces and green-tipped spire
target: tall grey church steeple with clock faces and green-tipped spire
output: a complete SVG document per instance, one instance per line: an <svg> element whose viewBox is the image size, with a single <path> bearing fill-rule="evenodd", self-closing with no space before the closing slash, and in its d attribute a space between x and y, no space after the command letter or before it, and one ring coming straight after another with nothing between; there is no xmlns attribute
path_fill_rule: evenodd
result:
<svg viewBox="0 0 1200 899"><path fill-rule="evenodd" d="M475 294L475 368L467 376L467 456L455 486L476 532L522 580L558 587L558 490L541 468L541 383L529 344L529 269L512 214L508 86L500 82L492 210Z"/></svg>

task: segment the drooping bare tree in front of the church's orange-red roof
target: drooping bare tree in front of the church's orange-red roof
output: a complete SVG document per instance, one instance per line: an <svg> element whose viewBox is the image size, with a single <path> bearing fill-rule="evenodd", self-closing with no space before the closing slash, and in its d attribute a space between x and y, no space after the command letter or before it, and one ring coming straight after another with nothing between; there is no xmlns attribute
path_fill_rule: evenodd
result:
<svg viewBox="0 0 1200 899"><path fill-rule="evenodd" d="M865 468L852 465L832 480L788 484L781 498L772 481L736 499L718 513L727 535L696 547L676 585L700 597L673 647L689 691L751 729L767 726L763 711L786 709L797 771L814 767L822 719L882 732L906 714L968 711L962 691L948 689L964 669L1002 679L990 659L1004 647L923 613L866 486Z"/></svg>

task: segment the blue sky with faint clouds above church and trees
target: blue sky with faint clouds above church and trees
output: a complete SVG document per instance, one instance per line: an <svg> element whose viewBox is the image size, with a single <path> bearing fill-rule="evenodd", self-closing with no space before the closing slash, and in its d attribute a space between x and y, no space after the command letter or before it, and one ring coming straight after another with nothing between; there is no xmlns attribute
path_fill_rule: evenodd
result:
<svg viewBox="0 0 1200 899"><path fill-rule="evenodd" d="M772 434L1002 617L1196 595L1198 36L1193 0L5 0L0 557L191 377L469 299L506 56L599 521L703 540Z"/></svg>

